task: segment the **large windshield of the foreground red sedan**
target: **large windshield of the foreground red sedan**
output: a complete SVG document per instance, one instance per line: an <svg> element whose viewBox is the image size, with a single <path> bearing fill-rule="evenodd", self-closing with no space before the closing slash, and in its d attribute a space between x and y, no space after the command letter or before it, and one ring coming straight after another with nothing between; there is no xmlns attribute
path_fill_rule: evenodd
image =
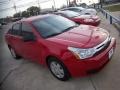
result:
<svg viewBox="0 0 120 90"><path fill-rule="evenodd" d="M76 23L62 16L50 15L33 21L33 25L43 38L48 38L70 30Z"/></svg>

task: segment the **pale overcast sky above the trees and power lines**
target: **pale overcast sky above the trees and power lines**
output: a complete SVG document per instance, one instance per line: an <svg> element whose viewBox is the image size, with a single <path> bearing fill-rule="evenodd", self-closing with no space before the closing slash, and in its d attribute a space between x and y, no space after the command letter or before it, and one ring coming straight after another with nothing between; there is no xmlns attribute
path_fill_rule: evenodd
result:
<svg viewBox="0 0 120 90"><path fill-rule="evenodd" d="M59 8L62 5L67 5L67 0L0 0L0 18L7 16L12 16L17 12L26 10L30 6L38 6L40 3L40 8L51 8L54 6L53 1L55 1L55 7ZM72 1L72 0L70 0ZM77 0L81 3L92 4L97 3L98 0ZM17 6L16 11L13 8L14 4Z"/></svg>

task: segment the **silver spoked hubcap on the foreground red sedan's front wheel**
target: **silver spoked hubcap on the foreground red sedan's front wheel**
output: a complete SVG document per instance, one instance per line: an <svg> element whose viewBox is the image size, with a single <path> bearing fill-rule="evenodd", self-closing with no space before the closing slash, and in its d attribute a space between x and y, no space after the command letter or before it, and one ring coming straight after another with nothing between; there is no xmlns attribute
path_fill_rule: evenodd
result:
<svg viewBox="0 0 120 90"><path fill-rule="evenodd" d="M54 73L54 75L57 76L58 78L64 77L63 67L59 63L54 62L54 61L51 62L50 68L51 68L51 71Z"/></svg>

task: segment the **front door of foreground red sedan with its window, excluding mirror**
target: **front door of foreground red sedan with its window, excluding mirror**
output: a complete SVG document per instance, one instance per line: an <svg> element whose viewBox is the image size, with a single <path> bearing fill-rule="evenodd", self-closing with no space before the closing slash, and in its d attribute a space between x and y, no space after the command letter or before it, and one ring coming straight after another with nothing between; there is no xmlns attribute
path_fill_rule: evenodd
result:
<svg viewBox="0 0 120 90"><path fill-rule="evenodd" d="M22 37L28 35L29 33L34 34L31 25L26 22L22 22L21 30ZM20 47L22 47L22 54L24 58L30 59L32 61L41 60L42 47L40 43L38 43L37 38L31 41L24 41L24 39L22 39L22 44Z"/></svg>

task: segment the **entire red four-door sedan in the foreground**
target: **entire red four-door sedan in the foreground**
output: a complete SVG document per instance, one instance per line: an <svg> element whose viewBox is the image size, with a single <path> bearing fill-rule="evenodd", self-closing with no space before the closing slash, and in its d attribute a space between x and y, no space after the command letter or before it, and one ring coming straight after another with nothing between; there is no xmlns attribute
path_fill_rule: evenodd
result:
<svg viewBox="0 0 120 90"><path fill-rule="evenodd" d="M48 66L59 80L87 75L113 55L116 40L98 27L77 25L58 15L41 15L13 24L5 35L12 56Z"/></svg>

